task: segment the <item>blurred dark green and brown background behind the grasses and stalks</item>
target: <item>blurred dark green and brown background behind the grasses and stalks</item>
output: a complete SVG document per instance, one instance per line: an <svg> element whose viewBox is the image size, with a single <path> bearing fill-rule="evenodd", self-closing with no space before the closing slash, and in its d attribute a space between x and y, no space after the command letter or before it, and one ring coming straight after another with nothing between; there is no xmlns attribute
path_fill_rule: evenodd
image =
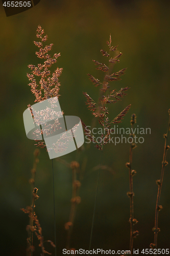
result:
<svg viewBox="0 0 170 256"><path fill-rule="evenodd" d="M151 128L151 135L144 135L144 143L133 151L134 216L139 221L135 228L139 236L134 240L135 249L149 248L154 242L156 180L160 179L164 139L168 122L169 59L170 59L170 3L168 1L47 1L34 8L6 17L1 5L1 254L25 255L28 216L20 208L31 203L30 170L33 165L34 141L26 137L23 112L34 104L34 95L28 86L27 67L37 65L35 31L40 24L48 35L47 44L53 43L52 53L61 52L56 67L62 67L60 77L60 105L65 115L79 116L91 125L92 115L85 105L83 91L94 100L99 89L95 88L87 73L102 79L92 59L106 62L100 50L108 50L106 41L111 33L112 45L123 52L114 71L128 68L121 81L113 82L113 89L130 87L128 95L110 106L114 118L125 106L132 104L119 127L130 127L131 114L137 115L139 127ZM86 145L85 145L86 146ZM36 214L42 226L44 240L54 241L52 160L41 149L35 185L39 199ZM100 151L91 145L80 152L79 162L87 157L87 166L80 189L78 206L71 235L71 248L88 249L95 186ZM71 162L77 159L72 152L62 157ZM169 152L167 161L169 160ZM129 175L125 163L129 161L129 144L112 143L104 147L102 164L113 172L102 170L94 221L92 248L105 250L129 249L130 217ZM170 160L169 160L170 161ZM62 255L66 243L64 224L68 221L71 199L71 169L54 159L57 255ZM166 167L159 214L158 248L170 248L170 174ZM36 241L36 238L34 239ZM34 255L40 255L38 243ZM54 248L45 245L54 255ZM140 254L140 253L139 253Z"/></svg>

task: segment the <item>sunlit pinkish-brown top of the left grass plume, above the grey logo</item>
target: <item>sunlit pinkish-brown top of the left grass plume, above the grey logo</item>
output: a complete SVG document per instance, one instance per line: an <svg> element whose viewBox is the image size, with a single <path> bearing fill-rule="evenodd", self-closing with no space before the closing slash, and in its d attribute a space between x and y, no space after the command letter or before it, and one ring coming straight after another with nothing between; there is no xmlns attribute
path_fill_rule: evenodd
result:
<svg viewBox="0 0 170 256"><path fill-rule="evenodd" d="M55 69L52 75L51 71L49 70L49 68L51 68L51 66L57 62L57 58L60 56L60 53L55 53L53 57L51 57L51 55L48 52L52 50L53 44L46 45L43 47L43 42L47 40L47 35L43 36L43 34L44 30L39 25L37 27L36 37L39 38L41 41L34 41L34 44L39 48L39 51L36 52L37 57L40 59L44 59L44 62L43 64L39 63L37 67L34 65L28 65L28 67L32 71L31 74L28 73L27 76L31 81L31 83L29 83L29 86L31 86L31 92L35 95L35 102L40 102L42 100L52 98L55 96L60 96L59 76L61 75L63 69ZM35 76L40 77L39 82L36 81ZM30 104L28 104L28 108L30 109L32 117L34 118L33 110ZM55 122L54 125L57 129L58 123ZM55 127L48 127L48 130L50 129L50 132L52 132L54 131ZM36 136L38 135L36 134ZM46 146L43 140L35 139L35 141L37 142L37 144L35 144L36 146L40 146L42 148Z"/></svg>

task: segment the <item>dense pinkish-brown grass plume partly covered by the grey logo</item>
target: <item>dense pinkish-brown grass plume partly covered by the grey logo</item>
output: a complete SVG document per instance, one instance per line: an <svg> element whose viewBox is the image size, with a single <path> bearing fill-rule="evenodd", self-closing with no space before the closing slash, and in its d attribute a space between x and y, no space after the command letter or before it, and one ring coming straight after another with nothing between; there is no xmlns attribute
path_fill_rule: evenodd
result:
<svg viewBox="0 0 170 256"><path fill-rule="evenodd" d="M53 44L46 45L43 47L43 42L47 40L47 35L43 36L44 30L39 25L36 31L36 36L41 41L37 42L34 41L34 44L39 48L39 51L36 52L36 55L38 58L44 59L43 64L39 63L37 67L34 65L28 65L28 67L32 70L31 74L27 74L29 80L31 80L31 83L29 83L29 86L31 86L31 92L35 95L35 102L40 102L48 98L56 97L59 98L59 90L60 90L60 82L59 82L59 76L62 73L62 68L57 68L53 74L51 75L51 71L49 68L57 62L57 58L60 56L60 53L55 53L53 57L48 53L52 50ZM39 76L39 83L36 81L35 76ZM36 122L37 125L40 125L41 127L41 121L45 120L51 120L51 116L55 117L54 123L44 124L43 132L45 132L46 135L53 134L56 130L61 129L60 123L58 118L63 116L63 112L56 112L53 110L53 108L56 105L56 99L53 98L51 101L51 108L46 108L45 110L41 111L35 111L33 110L32 106L28 104L28 108L30 109L32 118L34 119L34 122ZM76 124L73 129L77 129L78 124ZM34 131L34 137L35 141L37 142L35 145L39 146L41 148L48 146L45 145L45 142L39 138L40 135L43 136L42 129L39 131L39 129ZM72 140L72 134L69 132L62 133L60 138L53 143L53 145L50 147L48 146L48 150L54 150L55 153L63 152L68 148L68 142Z"/></svg>

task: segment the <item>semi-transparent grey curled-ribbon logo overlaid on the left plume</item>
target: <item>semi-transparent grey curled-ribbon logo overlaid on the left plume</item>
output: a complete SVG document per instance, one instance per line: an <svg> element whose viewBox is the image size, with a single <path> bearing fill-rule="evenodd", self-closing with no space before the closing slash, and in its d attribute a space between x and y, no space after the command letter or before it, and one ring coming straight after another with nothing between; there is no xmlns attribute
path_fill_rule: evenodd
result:
<svg viewBox="0 0 170 256"><path fill-rule="evenodd" d="M66 155L83 145L83 127L79 117L63 116L58 97L30 105L23 112L29 139L42 141L50 159Z"/></svg>

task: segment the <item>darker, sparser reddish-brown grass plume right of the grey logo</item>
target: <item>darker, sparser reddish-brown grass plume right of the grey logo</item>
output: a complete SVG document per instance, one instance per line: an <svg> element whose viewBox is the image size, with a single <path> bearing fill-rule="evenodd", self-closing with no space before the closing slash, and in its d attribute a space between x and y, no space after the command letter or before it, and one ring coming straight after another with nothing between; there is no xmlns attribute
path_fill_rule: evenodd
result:
<svg viewBox="0 0 170 256"><path fill-rule="evenodd" d="M117 50L117 46L113 47L111 46L111 35L109 41L107 41L107 45L109 47L109 53L101 50L101 53L105 57L109 57L109 65L106 66L105 63L101 63L99 61L93 60L94 64L98 66L96 69L103 71L105 74L104 81L101 82L98 78L93 77L90 74L87 74L89 76L89 79L92 81L95 87L101 86L102 91L102 97L99 99L99 104L96 103L88 94L87 92L83 92L87 99L87 108L92 112L92 115L94 117L98 117L99 123L103 127L103 134L101 136L100 143L96 141L96 138L91 134L90 130L87 129L87 126L84 122L82 122L85 135L94 143L96 143L95 147L99 150L103 150L103 145L108 143L110 140L110 126L114 123L122 122L123 117L127 114L127 112L130 109L130 105L128 105L122 112L120 112L112 121L109 120L108 114L108 104L109 103L116 103L120 100L120 98L123 98L127 94L125 93L129 88L121 88L119 91L116 92L116 90L109 90L110 88L110 82L121 80L120 76L125 74L126 69L119 70L117 72L111 73L111 70L113 68L113 64L116 62L119 62L119 57L122 56L122 53L119 53L118 55L111 57L111 52L115 52ZM111 66L112 65L112 66ZM105 134L105 131L107 133ZM104 135L105 134L105 135Z"/></svg>

